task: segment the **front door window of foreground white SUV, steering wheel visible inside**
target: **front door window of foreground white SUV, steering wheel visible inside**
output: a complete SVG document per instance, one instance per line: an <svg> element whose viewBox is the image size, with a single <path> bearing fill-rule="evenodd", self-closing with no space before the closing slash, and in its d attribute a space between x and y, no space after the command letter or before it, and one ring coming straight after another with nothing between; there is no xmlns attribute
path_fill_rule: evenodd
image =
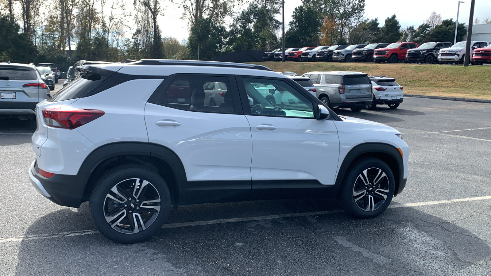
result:
<svg viewBox="0 0 491 276"><path fill-rule="evenodd" d="M314 118L312 102L289 83L254 78L242 81L250 99L250 114Z"/></svg>

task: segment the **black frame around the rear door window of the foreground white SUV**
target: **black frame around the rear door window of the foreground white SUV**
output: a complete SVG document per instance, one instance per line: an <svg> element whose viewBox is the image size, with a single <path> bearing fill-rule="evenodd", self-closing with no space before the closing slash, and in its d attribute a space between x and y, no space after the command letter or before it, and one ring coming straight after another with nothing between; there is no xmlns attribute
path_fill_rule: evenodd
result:
<svg viewBox="0 0 491 276"><path fill-rule="evenodd" d="M234 112L224 113L224 112L208 111L208 110L181 109L181 108L178 108L178 107L175 107L175 106L166 105L166 104L157 102L157 99L159 98L159 93L160 93L159 91L162 91L162 89L164 89L164 91L165 91L169 87L169 85L174 81L174 79L176 77L189 77L189 76L196 76L196 77L222 77L222 78L227 78L228 83L230 85L229 89L227 89L227 93L228 93L228 90L232 89L232 94L235 94L235 95L232 96L233 99L234 99L234 101L233 101ZM235 101L235 99L238 99L238 100ZM159 84L159 86L157 86L157 88L154 90L154 92L152 93L152 95L150 96L150 98L148 98L147 103L154 104L154 105L159 105L159 106L163 106L163 107L168 107L168 108L172 108L172 109L190 111L190 112L204 112L204 113L220 113L220 114L239 114L239 115L244 115L243 103L242 103L242 99L240 97L239 89L237 87L237 83L235 81L234 75L200 74L200 73L196 73L196 74L193 74L193 73L177 73L177 74L172 74L172 75L167 76L164 79L164 81L162 81L162 83Z"/></svg>

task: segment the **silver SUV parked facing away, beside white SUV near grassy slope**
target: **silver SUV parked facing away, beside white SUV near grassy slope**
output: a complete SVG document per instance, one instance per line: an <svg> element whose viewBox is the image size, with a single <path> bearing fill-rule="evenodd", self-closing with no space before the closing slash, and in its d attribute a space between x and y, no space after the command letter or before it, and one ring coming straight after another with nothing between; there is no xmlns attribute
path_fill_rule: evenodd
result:
<svg viewBox="0 0 491 276"><path fill-rule="evenodd" d="M365 73L308 72L302 76L310 78L317 87L317 98L331 109L350 108L360 111L372 104L372 83Z"/></svg>

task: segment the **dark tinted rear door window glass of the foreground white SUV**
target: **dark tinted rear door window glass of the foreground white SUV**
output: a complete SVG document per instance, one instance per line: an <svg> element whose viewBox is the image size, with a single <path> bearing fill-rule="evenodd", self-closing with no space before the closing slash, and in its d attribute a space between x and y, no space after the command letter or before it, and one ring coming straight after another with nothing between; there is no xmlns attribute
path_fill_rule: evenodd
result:
<svg viewBox="0 0 491 276"><path fill-rule="evenodd" d="M157 88L155 103L182 110L234 113L234 103L239 100L229 87L227 77L177 76L164 89Z"/></svg>

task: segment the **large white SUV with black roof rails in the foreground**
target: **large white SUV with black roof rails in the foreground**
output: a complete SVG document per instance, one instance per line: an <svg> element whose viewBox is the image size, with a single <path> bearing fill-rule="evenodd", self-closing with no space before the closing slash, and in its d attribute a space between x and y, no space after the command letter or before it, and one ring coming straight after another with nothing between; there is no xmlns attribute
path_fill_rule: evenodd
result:
<svg viewBox="0 0 491 276"><path fill-rule="evenodd" d="M29 176L57 204L88 200L111 240L146 239L171 204L331 196L373 218L406 185L400 132L339 117L264 66L142 59L80 71L37 105ZM220 105L206 101L210 82L227 88Z"/></svg>

